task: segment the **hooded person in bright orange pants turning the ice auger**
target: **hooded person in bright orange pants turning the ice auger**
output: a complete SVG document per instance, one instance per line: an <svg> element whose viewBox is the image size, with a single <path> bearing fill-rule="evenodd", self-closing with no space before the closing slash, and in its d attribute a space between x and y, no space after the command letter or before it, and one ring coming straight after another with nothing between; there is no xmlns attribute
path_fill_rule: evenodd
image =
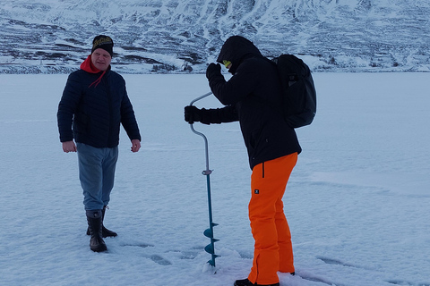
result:
<svg viewBox="0 0 430 286"><path fill-rule="evenodd" d="M248 208L255 245L251 273L235 285L279 285L278 271L295 271L282 197L301 147L280 110L282 91L276 66L240 36L228 38L217 62L208 66L206 77L212 93L226 106L185 106L185 121L239 121L253 171ZM219 63L233 74L230 80L224 79Z"/></svg>

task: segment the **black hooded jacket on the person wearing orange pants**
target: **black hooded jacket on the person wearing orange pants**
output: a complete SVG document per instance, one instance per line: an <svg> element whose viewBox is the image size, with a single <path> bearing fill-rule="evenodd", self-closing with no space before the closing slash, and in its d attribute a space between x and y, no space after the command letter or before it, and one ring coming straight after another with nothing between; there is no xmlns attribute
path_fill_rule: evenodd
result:
<svg viewBox="0 0 430 286"><path fill-rule="evenodd" d="M251 169L256 164L300 153L296 131L280 110L282 95L276 66L254 44L240 36L228 38L217 62L228 60L233 74L226 81L220 72L208 75L212 93L226 105L202 111L202 122L239 121Z"/></svg>

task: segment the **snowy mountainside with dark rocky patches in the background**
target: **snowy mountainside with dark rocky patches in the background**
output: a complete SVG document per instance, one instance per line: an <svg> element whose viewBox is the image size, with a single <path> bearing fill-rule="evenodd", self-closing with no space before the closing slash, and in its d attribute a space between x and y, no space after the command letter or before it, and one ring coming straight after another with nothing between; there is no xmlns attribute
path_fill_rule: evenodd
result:
<svg viewBox="0 0 430 286"><path fill-rule="evenodd" d="M67 72L98 34L123 72L202 72L229 36L314 71L430 71L428 0L2 0L0 72Z"/></svg>

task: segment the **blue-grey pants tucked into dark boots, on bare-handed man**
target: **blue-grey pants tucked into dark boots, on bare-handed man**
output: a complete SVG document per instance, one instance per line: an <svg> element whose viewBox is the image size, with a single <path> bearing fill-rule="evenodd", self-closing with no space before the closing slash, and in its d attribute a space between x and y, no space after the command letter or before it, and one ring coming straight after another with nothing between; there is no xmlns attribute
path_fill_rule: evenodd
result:
<svg viewBox="0 0 430 286"><path fill-rule="evenodd" d="M103 209L114 188L118 147L97 148L83 143L77 143L76 147L85 210Z"/></svg>

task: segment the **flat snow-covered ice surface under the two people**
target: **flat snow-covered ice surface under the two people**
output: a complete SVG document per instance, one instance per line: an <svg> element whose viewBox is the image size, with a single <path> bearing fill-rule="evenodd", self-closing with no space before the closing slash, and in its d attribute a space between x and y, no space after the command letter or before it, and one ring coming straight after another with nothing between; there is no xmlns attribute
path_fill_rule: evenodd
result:
<svg viewBox="0 0 430 286"><path fill-rule="evenodd" d="M183 119L207 80L124 76L142 149L130 152L121 133L105 220L118 236L93 253L76 154L63 153L56 128L67 76L0 75L0 285L226 286L248 274L251 171L238 124L194 124L214 170L221 257L212 269L204 145ZM298 275L280 273L280 285L430 285L430 74L315 73L314 81L318 113L297 130L304 151L284 197Z"/></svg>

